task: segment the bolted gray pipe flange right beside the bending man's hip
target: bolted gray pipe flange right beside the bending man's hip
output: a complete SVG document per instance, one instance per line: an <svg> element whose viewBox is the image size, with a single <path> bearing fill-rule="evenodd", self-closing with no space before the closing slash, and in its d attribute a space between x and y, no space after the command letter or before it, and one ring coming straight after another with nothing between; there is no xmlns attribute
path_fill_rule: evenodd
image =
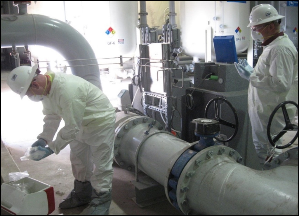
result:
<svg viewBox="0 0 299 216"><path fill-rule="evenodd" d="M130 118L127 118L125 121L122 121L118 127L115 129L115 135L114 135L114 161L121 166L123 169L127 169L129 171L134 171L135 166L133 164L128 164L124 162L124 160L121 157L121 154L119 152L119 149L121 147L121 140L123 137L128 133L132 128L140 125L147 125L152 124L152 127L154 127L156 130L161 128L161 124L157 121L155 121L152 118L146 117L146 116L133 116ZM145 126L144 126L145 128ZM150 135L150 132L149 134Z"/></svg>

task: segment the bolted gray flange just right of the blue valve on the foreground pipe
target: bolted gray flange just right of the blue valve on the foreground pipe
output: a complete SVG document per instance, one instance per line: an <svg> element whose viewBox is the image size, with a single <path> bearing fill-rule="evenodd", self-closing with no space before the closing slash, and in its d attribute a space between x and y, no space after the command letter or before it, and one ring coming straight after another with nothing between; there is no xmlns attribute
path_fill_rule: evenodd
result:
<svg viewBox="0 0 299 216"><path fill-rule="evenodd" d="M231 158L231 160L243 164L242 157L237 151L224 145L215 145L198 152L184 167L178 181L176 199L180 210L185 215L192 215L196 213L192 212L187 200L189 183L193 174L202 164L207 163L211 158L219 157L221 155L227 155L229 158Z"/></svg>

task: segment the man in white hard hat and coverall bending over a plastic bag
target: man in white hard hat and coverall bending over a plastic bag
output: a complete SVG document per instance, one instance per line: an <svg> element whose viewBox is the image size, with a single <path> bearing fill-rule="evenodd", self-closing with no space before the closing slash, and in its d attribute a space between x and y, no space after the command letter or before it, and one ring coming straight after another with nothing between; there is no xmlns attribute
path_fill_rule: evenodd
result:
<svg viewBox="0 0 299 216"><path fill-rule="evenodd" d="M70 144L74 189L59 207L68 209L89 203L83 215L108 215L115 109L99 88L83 78L62 72L42 75L37 67L15 68L7 84L21 98L27 95L32 101L42 101L45 124L32 144L45 152L42 158L58 154ZM65 126L53 141L61 119Z"/></svg>

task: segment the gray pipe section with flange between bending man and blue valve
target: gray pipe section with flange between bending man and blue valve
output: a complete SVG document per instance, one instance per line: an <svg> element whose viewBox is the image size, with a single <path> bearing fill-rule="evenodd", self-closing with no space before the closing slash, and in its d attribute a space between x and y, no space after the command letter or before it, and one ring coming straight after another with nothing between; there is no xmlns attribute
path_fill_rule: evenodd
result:
<svg viewBox="0 0 299 216"><path fill-rule="evenodd" d="M122 168L132 170L136 167L135 160L138 160L138 169L164 185L169 163L174 159L173 155L181 149L190 148L190 143L161 130L163 126L152 118L123 112L118 112L116 115L115 161ZM148 124L152 124L153 127L149 128ZM148 129L149 134L145 133ZM159 143L156 143L157 137Z"/></svg>

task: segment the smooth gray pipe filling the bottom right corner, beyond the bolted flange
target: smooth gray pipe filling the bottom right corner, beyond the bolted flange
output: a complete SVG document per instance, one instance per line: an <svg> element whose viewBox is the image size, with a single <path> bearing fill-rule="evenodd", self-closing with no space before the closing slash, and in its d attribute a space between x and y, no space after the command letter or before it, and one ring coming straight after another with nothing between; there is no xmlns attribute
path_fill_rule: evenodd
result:
<svg viewBox="0 0 299 216"><path fill-rule="evenodd" d="M298 166L260 171L215 155L193 173L184 200L191 214L298 215Z"/></svg>

